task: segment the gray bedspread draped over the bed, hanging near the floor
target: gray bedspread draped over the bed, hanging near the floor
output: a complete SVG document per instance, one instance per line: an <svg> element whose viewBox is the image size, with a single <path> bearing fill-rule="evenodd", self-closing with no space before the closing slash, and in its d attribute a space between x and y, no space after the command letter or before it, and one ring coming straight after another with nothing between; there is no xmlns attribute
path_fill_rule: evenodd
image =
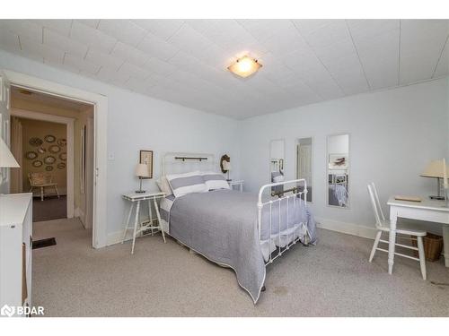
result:
<svg viewBox="0 0 449 336"><path fill-rule="evenodd" d="M259 299L265 281L256 205L257 194L217 190L176 198L170 211L170 235L207 259L231 267L240 286L250 293L254 303ZM281 204L281 223L286 221L282 219L286 216L285 206L285 202ZM265 206L262 236L266 237L269 237L269 224L265 225L269 220L268 211ZM314 244L315 228L310 212L303 207L289 211L288 217L288 225L301 218L309 219L310 242ZM278 206L273 206L271 233L279 228L277 219ZM283 228L281 225L281 230Z"/></svg>

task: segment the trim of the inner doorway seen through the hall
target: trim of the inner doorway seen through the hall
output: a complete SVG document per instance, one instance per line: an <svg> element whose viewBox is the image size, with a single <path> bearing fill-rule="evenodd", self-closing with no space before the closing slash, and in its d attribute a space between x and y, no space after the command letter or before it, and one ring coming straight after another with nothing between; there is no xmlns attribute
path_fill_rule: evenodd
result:
<svg viewBox="0 0 449 336"><path fill-rule="evenodd" d="M11 108L11 116L26 119L48 121L50 123L64 124L67 127L67 218L75 216L75 119L66 116L54 116L31 110Z"/></svg>

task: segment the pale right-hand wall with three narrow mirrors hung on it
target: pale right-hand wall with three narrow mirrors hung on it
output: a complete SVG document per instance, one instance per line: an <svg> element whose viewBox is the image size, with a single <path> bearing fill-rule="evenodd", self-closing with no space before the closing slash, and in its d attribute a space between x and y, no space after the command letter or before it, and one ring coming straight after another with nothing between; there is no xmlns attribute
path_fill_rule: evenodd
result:
<svg viewBox="0 0 449 336"><path fill-rule="evenodd" d="M312 136L315 216L323 227L370 236L368 182L376 183L383 204L392 194L435 194L436 181L418 175L447 153L447 96L443 79L246 119L240 125L245 186L256 191L269 182L272 139L286 139L286 177L294 178L296 139ZM342 133L350 134L349 210L325 204L326 137Z"/></svg>

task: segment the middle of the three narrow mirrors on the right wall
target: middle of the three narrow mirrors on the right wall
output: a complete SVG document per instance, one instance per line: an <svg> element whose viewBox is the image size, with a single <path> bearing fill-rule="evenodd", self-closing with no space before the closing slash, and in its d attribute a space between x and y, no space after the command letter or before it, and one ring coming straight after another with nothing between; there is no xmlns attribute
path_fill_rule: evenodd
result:
<svg viewBox="0 0 449 336"><path fill-rule="evenodd" d="M313 139L301 138L296 141L296 179L304 178L307 183L307 202L312 202L313 194ZM300 189L300 191L302 191ZM304 199L304 194L301 194Z"/></svg>

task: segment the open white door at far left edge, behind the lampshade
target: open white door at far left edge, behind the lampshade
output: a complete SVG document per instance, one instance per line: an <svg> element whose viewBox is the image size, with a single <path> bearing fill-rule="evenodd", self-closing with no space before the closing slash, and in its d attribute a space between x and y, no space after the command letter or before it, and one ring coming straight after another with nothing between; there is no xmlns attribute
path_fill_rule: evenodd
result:
<svg viewBox="0 0 449 336"><path fill-rule="evenodd" d="M0 138L10 147L10 92L11 87L3 71L0 70ZM0 194L9 194L10 168L0 168Z"/></svg>

